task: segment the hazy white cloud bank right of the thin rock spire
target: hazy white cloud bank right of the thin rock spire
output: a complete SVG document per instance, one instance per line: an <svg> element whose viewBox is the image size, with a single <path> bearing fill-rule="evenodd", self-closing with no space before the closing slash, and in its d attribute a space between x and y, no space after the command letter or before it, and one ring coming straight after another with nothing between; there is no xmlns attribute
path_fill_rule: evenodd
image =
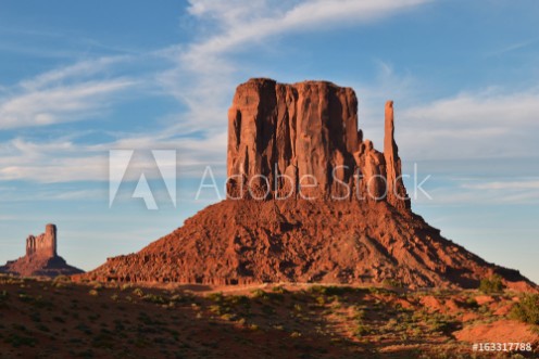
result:
<svg viewBox="0 0 539 359"><path fill-rule="evenodd" d="M530 157L539 152L538 116L538 89L488 89L397 107L396 136L409 161Z"/></svg>

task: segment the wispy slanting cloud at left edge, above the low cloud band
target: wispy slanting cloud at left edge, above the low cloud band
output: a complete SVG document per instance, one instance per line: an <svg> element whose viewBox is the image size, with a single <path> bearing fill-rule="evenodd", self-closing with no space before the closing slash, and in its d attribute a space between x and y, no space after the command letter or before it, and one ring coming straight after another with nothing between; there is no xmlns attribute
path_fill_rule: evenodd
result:
<svg viewBox="0 0 539 359"><path fill-rule="evenodd" d="M124 77L98 76L127 55L76 62L22 80L0 93L0 129L42 127L97 115L137 85Z"/></svg>

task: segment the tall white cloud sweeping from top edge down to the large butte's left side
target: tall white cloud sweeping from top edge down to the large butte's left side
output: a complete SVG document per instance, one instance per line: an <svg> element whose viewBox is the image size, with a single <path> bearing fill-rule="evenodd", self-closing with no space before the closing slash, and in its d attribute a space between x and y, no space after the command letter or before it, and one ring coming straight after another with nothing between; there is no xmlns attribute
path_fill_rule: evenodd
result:
<svg viewBox="0 0 539 359"><path fill-rule="evenodd" d="M177 66L159 80L189 108L179 126L223 131L226 124L215 126L215 119L226 114L241 73L230 55L246 48L253 51L253 44L263 46L277 35L364 24L430 1L190 1L188 12L197 17L202 35L163 52Z"/></svg>

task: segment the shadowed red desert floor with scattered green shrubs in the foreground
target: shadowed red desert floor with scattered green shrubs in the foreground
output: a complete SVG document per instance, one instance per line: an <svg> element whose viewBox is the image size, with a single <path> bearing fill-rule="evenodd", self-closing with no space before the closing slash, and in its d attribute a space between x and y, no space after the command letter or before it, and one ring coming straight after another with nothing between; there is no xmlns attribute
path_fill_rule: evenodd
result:
<svg viewBox="0 0 539 359"><path fill-rule="evenodd" d="M0 277L0 358L536 358L518 294ZM531 351L474 351L473 343Z"/></svg>

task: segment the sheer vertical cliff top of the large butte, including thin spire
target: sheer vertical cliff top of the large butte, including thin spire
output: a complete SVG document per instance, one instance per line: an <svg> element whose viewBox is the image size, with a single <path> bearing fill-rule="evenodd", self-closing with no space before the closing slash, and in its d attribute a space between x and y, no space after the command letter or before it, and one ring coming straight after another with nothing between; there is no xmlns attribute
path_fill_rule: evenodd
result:
<svg viewBox="0 0 539 359"><path fill-rule="evenodd" d="M228 195L387 201L410 208L400 179L392 103L389 110L380 154L358 129L351 88L270 79L240 85L228 111Z"/></svg>

